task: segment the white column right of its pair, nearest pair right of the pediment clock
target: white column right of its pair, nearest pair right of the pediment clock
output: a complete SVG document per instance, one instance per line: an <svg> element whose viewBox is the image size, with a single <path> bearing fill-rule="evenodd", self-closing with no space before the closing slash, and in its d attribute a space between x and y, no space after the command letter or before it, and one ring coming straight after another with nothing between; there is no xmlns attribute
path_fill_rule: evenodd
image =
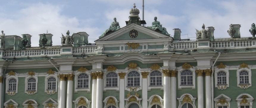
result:
<svg viewBox="0 0 256 108"><path fill-rule="evenodd" d="M177 100L177 95L176 95L176 74L177 74L177 71L173 71L171 70L171 102L170 102L170 106L171 108L177 108L177 103L176 103L176 100Z"/></svg>

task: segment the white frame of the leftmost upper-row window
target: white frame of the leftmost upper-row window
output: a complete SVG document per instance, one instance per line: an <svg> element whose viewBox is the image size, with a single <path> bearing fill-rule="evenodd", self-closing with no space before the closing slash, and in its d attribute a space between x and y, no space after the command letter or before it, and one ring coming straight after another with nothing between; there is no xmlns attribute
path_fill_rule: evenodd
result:
<svg viewBox="0 0 256 108"><path fill-rule="evenodd" d="M10 79L16 79L16 90L12 90L12 91L9 91L9 80ZM5 79L5 93L10 95L10 96L13 96L15 95L16 93L18 93L18 76L15 74L15 75L8 75L8 73L6 74L6 79Z"/></svg>

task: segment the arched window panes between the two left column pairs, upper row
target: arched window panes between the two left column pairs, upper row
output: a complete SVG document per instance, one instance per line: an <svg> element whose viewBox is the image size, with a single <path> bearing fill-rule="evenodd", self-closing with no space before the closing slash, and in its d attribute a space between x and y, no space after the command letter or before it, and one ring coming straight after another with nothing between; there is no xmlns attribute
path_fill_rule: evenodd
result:
<svg viewBox="0 0 256 108"><path fill-rule="evenodd" d="M85 73L81 73L77 78L77 88L88 88L89 76Z"/></svg>

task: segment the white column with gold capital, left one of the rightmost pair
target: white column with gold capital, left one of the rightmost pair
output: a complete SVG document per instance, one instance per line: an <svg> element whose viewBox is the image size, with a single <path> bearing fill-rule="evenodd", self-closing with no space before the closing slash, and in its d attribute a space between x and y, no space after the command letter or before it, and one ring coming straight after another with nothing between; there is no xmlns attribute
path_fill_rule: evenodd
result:
<svg viewBox="0 0 256 108"><path fill-rule="evenodd" d="M198 102L198 108L204 108L203 70L196 70L196 73L197 73L197 97L198 97L197 102Z"/></svg>

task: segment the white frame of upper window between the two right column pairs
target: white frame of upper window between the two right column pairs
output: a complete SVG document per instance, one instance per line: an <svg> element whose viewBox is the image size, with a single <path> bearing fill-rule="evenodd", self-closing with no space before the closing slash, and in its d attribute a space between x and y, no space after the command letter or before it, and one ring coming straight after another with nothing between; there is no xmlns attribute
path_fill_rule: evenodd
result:
<svg viewBox="0 0 256 108"><path fill-rule="evenodd" d="M193 85L181 85L181 72L189 70L193 73ZM182 66L178 67L178 90L182 90L182 88L192 88L192 90L196 89L196 68L183 69Z"/></svg>

